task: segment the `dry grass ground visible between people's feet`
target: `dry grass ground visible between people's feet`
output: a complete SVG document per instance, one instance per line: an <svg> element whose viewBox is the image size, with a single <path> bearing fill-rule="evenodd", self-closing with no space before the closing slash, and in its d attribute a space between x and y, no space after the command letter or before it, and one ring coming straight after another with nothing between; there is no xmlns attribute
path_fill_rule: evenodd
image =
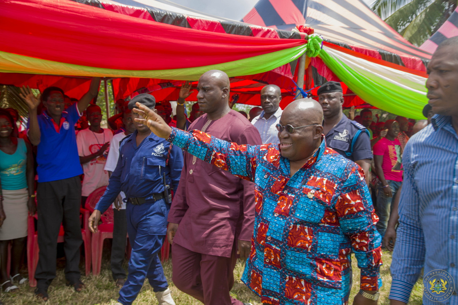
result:
<svg viewBox="0 0 458 305"><path fill-rule="evenodd" d="M57 278L53 281L52 285L49 287L49 301L47 305L114 305L118 298L119 289L115 288L114 282L111 278L111 272L109 271L109 256L107 252L104 251L105 255L103 257L102 271L100 275L93 276L89 275L87 277L82 277L82 281L86 284L86 289L82 292L77 293L73 289L65 286L64 278L64 262L58 261L58 270ZM391 252L384 251L383 253L383 266L381 268L383 287L380 290L380 299L379 305L389 304L387 299L388 293L390 290L391 276L389 271L389 266L391 264ZM356 264L356 259L352 258L352 267L354 270L353 273L353 288L351 293L351 298L349 304L353 302L353 296L359 291L359 272ZM81 265L81 270L83 271L83 265ZM245 284L240 281L240 277L243 273L244 264L239 262L235 268L234 276L236 278L234 288L231 291L233 297L243 301L251 302L254 305L261 305L261 300L255 294L248 289ZM27 270L23 270L24 274L27 273ZM172 276L172 268L170 262L164 263L165 275L168 279ZM200 305L199 301L193 299L187 294L182 293L180 290L176 289L173 283L169 282L170 289L172 290L172 295L177 305ZM28 305L28 304L37 304L42 303L38 302L33 294L33 288L27 286L21 286L21 289L17 293L2 293L0 300L4 302L5 305ZM409 304L420 305L422 304L422 289L421 282L417 282L414 286L414 290L410 297ZM158 304L154 296L153 289L147 282L145 282L142 291L138 295L135 305L154 305Z"/></svg>

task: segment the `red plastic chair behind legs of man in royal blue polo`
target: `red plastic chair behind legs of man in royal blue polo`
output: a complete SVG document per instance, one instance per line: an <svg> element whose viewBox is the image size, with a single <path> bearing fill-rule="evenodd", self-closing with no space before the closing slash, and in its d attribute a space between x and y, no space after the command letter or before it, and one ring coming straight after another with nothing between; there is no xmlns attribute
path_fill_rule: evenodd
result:
<svg viewBox="0 0 458 305"><path fill-rule="evenodd" d="M84 243L84 257L85 257L85 269L86 275L91 272L91 235L89 231L89 211L87 209L80 209L80 217L82 217L82 239ZM38 215L28 216L27 219L27 269L29 276L30 287L37 286L37 280L35 279L35 270L38 264L38 234L35 228L35 219L38 219ZM57 242L64 242L64 228L60 225L59 236Z"/></svg>

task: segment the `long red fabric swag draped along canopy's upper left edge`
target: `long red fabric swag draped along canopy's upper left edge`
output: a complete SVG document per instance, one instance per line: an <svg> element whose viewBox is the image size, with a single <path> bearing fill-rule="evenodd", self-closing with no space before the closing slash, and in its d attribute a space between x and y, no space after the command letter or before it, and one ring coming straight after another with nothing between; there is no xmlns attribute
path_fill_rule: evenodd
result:
<svg viewBox="0 0 458 305"><path fill-rule="evenodd" d="M65 14L60 1L7 2L8 5L0 4L2 22L10 28L2 31L1 50L66 64L116 70L169 70L220 64L304 44L303 39L180 28L68 0L62 0Z"/></svg>

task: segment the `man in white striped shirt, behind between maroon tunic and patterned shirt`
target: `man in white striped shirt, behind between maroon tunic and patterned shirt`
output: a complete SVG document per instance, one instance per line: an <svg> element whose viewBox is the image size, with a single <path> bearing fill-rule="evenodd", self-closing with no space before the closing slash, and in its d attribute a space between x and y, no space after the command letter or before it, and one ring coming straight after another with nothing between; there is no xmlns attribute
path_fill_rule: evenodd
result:
<svg viewBox="0 0 458 305"><path fill-rule="evenodd" d="M267 85L262 88L262 112L251 121L259 131L259 134L261 134L262 144L278 143L278 130L275 126L280 121L283 112L279 107L281 100L281 90L277 85Z"/></svg>

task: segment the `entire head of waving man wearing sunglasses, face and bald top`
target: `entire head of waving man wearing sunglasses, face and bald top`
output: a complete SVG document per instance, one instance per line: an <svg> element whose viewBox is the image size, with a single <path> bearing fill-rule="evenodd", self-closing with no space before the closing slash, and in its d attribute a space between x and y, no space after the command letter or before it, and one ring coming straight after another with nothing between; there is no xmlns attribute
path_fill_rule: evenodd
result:
<svg viewBox="0 0 458 305"><path fill-rule="evenodd" d="M305 100L305 102L304 102ZM280 118L280 124L290 124L293 127L316 124L294 129L289 134L284 129L278 133L281 155L290 161L302 161L309 158L321 143L323 116L316 101L310 99L297 100L285 107Z"/></svg>

